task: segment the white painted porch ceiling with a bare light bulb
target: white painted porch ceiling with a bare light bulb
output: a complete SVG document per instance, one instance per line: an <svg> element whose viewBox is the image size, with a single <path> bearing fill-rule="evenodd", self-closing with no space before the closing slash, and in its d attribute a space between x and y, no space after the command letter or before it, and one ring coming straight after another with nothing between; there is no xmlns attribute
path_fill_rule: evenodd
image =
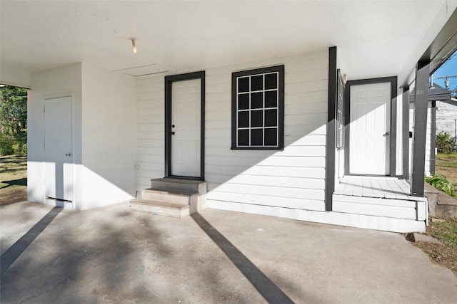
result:
<svg viewBox="0 0 457 304"><path fill-rule="evenodd" d="M81 61L140 75L329 46L338 46L348 79L406 77L456 6L450 0L2 0L0 83L27 86L34 71ZM137 39L136 55L129 37ZM144 68L131 70L137 67Z"/></svg>

